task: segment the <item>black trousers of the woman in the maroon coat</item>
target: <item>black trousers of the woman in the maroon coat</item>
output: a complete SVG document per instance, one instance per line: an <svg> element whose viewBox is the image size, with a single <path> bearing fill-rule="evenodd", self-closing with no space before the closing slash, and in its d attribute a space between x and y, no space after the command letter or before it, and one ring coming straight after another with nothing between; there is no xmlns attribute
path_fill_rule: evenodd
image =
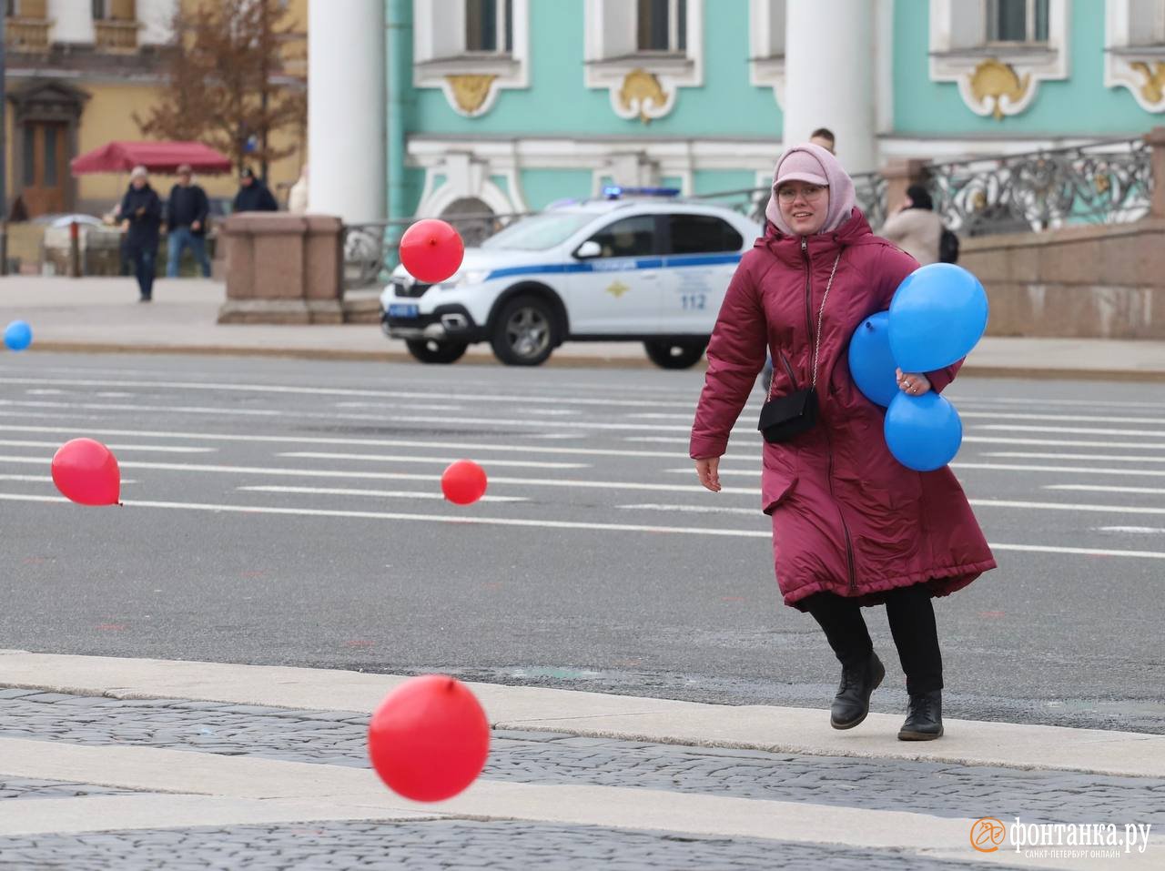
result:
<svg viewBox="0 0 1165 871"><path fill-rule="evenodd" d="M874 643L857 602L834 593L814 593L803 602L821 624L842 665L857 665L869 657ZM906 674L906 692L913 695L941 689L942 654L930 590L920 583L890 590L885 616Z"/></svg>

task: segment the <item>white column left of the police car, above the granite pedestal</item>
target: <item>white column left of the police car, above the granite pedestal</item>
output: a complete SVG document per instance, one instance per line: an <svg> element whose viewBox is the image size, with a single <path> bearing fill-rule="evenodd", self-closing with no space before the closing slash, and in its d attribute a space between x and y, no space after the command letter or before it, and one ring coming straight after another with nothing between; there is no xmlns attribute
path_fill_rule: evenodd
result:
<svg viewBox="0 0 1165 871"><path fill-rule="evenodd" d="M384 217L384 3L308 2L308 211Z"/></svg>

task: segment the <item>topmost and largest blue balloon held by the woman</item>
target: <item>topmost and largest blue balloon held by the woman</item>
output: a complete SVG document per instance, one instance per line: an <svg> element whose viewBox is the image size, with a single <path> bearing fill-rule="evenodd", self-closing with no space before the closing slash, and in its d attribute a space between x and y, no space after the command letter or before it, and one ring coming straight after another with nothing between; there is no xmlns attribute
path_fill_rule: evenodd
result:
<svg viewBox="0 0 1165 871"><path fill-rule="evenodd" d="M970 353L987 330L987 293L954 263L908 275L890 303L890 348L903 371L933 371Z"/></svg>

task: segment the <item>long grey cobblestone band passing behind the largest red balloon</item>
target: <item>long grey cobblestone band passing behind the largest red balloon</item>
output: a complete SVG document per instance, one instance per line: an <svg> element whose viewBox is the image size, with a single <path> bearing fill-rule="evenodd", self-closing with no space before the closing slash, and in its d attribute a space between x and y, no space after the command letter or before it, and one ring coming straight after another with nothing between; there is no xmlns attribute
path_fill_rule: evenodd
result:
<svg viewBox="0 0 1165 871"><path fill-rule="evenodd" d="M367 715L0 689L0 737L123 744L368 767ZM1165 829L1165 779L803 756L495 731L485 779L675 789L772 801L1021 816L1136 820Z"/></svg>

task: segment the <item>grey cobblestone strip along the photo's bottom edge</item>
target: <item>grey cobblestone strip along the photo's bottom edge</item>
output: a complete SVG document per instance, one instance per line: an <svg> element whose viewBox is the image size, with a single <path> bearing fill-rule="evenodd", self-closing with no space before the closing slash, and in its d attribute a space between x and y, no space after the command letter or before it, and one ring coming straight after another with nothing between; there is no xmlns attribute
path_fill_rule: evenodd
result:
<svg viewBox="0 0 1165 871"><path fill-rule="evenodd" d="M955 871L981 865L935 862L894 850L518 822L344 822L0 838L0 869L5 871L111 868Z"/></svg>

